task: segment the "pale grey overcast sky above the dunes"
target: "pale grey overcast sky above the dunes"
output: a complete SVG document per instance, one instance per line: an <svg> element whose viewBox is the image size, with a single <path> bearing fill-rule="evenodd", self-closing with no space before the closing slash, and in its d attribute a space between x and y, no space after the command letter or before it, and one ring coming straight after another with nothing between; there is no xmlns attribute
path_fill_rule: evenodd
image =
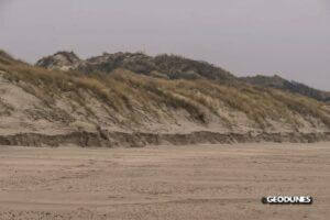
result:
<svg viewBox="0 0 330 220"><path fill-rule="evenodd" d="M330 0L0 0L0 48L174 53L330 90Z"/></svg>

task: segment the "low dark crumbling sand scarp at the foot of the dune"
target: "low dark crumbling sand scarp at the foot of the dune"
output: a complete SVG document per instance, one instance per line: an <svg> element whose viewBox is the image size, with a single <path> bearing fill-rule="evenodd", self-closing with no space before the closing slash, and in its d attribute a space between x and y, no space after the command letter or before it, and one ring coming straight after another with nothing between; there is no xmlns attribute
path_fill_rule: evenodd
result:
<svg viewBox="0 0 330 220"><path fill-rule="evenodd" d="M330 132L323 133L217 133L199 131L187 134L169 133L124 133L124 132L73 132L47 135L20 133L0 135L0 145L59 146L75 144L81 147L143 147L146 145L184 144L232 144L232 143L315 143L330 141Z"/></svg>

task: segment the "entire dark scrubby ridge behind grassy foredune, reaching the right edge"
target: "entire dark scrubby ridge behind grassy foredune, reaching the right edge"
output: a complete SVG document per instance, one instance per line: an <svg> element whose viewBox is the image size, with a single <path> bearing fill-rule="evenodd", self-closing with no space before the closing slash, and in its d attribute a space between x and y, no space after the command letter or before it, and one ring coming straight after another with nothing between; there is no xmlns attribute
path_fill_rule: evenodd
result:
<svg viewBox="0 0 330 220"><path fill-rule="evenodd" d="M103 53L88 59L79 59L73 52L58 52L44 57L36 63L48 69L75 69L85 74L112 73L121 68L140 75L165 79L209 79L218 84L238 86L250 84L253 86L276 88L284 91L299 94L319 101L328 101L330 94L314 89L304 84L286 80L277 75L273 77L257 75L254 77L235 77L231 73L207 62L194 61L178 55L148 56L144 53Z"/></svg>

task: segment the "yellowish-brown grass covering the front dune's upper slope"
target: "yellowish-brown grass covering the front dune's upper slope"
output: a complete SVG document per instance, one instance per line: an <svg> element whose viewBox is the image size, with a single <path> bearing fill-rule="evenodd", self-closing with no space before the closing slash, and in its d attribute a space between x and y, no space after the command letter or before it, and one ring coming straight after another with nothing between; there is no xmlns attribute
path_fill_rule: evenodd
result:
<svg viewBox="0 0 330 220"><path fill-rule="evenodd" d="M168 58L173 57L163 56L156 61ZM191 65L193 68L199 68ZM172 73L170 66L164 66L164 69ZM129 116L136 123L141 118L141 112L136 109L139 107L145 113L155 117L160 117L162 111L168 113L168 109L185 110L193 120L205 124L208 123L209 113L230 123L230 118L221 113L221 110L228 109L246 114L261 128L267 127L270 120L299 125L295 114L317 118L330 127L330 111L323 108L324 103L299 95L246 84L233 87L205 78L168 80L120 68L111 74L88 75L75 70L47 70L13 61L6 55L0 55L0 73L8 80L44 100L50 107L56 97L69 94L92 114L94 110L87 107L88 100L81 94L88 92L107 106L109 114L117 112Z"/></svg>

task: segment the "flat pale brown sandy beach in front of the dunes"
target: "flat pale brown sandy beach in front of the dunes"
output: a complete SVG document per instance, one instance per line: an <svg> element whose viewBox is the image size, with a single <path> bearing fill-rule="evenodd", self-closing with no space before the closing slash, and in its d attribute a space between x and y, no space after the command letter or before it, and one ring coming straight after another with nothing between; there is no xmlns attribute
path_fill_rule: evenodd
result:
<svg viewBox="0 0 330 220"><path fill-rule="evenodd" d="M0 147L0 219L329 219L330 143ZM262 205L310 195L311 206Z"/></svg>

